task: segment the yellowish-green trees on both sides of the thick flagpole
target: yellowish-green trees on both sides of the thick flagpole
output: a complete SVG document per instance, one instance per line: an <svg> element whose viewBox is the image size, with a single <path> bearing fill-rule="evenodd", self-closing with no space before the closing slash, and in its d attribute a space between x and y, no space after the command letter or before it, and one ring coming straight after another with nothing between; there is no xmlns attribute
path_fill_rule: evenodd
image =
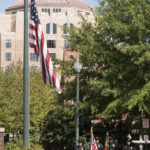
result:
<svg viewBox="0 0 150 150"><path fill-rule="evenodd" d="M55 107L55 89L45 85L41 71L30 72L30 133L37 138L44 117ZM11 65L8 71L0 71L0 126L6 133L21 134L23 131L23 69L21 62ZM32 139L31 139L32 140ZM38 140L38 139L37 139Z"/></svg>

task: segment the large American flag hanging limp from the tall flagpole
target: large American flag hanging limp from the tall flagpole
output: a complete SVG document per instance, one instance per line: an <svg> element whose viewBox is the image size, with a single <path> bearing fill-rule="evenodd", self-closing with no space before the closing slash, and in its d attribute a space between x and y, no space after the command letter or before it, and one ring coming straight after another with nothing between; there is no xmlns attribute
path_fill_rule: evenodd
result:
<svg viewBox="0 0 150 150"><path fill-rule="evenodd" d="M44 34L40 24L35 0L31 0L30 11L31 17L29 22L29 45L31 48L34 48L37 57L40 57L44 83L52 84L60 94L62 92L62 88L59 80L56 77L47 45L44 40Z"/></svg>

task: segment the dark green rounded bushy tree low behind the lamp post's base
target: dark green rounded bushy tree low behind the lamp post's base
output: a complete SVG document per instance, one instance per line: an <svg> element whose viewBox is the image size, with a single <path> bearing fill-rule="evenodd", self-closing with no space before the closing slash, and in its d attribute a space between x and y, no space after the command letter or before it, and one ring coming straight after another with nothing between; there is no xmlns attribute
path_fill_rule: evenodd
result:
<svg viewBox="0 0 150 150"><path fill-rule="evenodd" d="M44 128L40 141L45 150L62 150L66 147L73 150L75 147L75 109L68 106L59 106L50 110L45 118ZM90 120L80 116L82 122L80 126L80 138L84 140L84 145L89 146L89 125ZM86 134L83 134L86 133ZM87 138L88 135L88 138ZM89 148L89 147L88 147Z"/></svg>

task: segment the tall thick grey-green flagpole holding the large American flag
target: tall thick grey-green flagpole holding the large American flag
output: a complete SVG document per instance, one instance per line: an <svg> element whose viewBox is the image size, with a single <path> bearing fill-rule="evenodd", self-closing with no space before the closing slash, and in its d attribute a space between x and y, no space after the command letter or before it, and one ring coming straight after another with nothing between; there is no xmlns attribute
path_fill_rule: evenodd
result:
<svg viewBox="0 0 150 150"><path fill-rule="evenodd" d="M28 0L24 0L24 130L23 143L29 147L29 54L28 54Z"/></svg>

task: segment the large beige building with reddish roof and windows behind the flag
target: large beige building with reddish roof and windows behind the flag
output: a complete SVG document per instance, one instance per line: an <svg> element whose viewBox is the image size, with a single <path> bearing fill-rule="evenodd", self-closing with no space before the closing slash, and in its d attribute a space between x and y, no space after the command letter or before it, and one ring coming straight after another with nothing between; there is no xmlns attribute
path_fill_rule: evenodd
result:
<svg viewBox="0 0 150 150"><path fill-rule="evenodd" d="M49 54L52 58L63 60L69 48L68 41L63 38L63 35L68 34L65 27L79 27L79 13L93 21L91 7L81 0L36 0L36 5ZM24 0L8 6L5 12L5 15L0 14L0 67L7 70L10 64L19 60L23 62ZM31 48L29 66L31 69L40 67L34 49Z"/></svg>

